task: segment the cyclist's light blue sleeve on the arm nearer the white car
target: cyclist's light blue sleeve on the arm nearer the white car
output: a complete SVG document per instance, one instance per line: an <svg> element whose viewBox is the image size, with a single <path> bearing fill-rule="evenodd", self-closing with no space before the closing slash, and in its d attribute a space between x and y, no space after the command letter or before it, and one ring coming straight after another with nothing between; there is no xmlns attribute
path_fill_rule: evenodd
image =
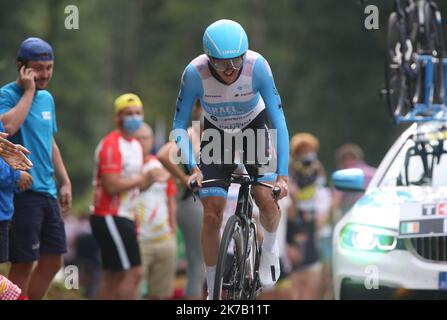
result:
<svg viewBox="0 0 447 320"><path fill-rule="evenodd" d="M276 173L288 175L289 131L281 106L281 98L273 80L270 66L263 57L259 57L253 67L253 89L261 94L267 109L267 116L276 129L278 167Z"/></svg>

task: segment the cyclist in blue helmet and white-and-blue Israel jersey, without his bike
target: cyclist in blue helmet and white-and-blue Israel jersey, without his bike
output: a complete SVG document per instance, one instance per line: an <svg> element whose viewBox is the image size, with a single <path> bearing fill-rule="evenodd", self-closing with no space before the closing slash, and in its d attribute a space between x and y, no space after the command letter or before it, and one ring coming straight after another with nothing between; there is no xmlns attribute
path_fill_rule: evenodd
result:
<svg viewBox="0 0 447 320"><path fill-rule="evenodd" d="M234 132L248 129L264 130L264 143L268 149L267 119L277 130L278 166L276 173L265 174L263 181L281 189L279 198L287 195L289 135L281 99L276 90L272 72L267 61L254 51L248 50L247 35L240 24L231 20L219 20L208 26L203 36L205 54L198 56L186 67L181 81L174 117L174 138L182 158L190 167L189 185L197 181L199 196L204 206L202 250L206 265L208 298L211 298L219 247L219 230L225 208L228 184L214 182L202 186L208 179L229 178L235 166L226 160L227 148L213 152L213 159L221 152L220 159L204 161L204 148L209 150L210 140L202 139L200 166L189 152L191 141L187 134L188 121L194 100L198 97L205 117L204 134L218 132L221 141ZM259 131L258 131L259 132ZM219 139L218 139L219 140ZM212 141L215 144L215 141ZM258 141L256 141L258 142ZM247 144L243 151L249 150ZM259 144L259 143L255 143ZM234 147L231 147L234 156ZM252 152L243 152L244 163ZM255 150L255 153L256 150ZM252 162L253 164L253 162ZM261 164L256 158L254 164ZM265 164L265 163L264 163ZM254 166L246 166L254 172ZM256 170L259 172L259 170ZM275 181L276 179L276 181ZM279 277L279 249L276 229L280 219L271 190L254 186L253 195L260 209L261 224L265 229L260 263L260 280L263 286L271 287Z"/></svg>

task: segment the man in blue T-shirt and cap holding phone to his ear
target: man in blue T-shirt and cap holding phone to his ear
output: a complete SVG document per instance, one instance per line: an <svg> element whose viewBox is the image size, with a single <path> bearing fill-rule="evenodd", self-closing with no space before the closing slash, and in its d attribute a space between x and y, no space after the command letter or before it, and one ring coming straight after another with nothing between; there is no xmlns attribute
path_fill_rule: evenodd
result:
<svg viewBox="0 0 447 320"><path fill-rule="evenodd" d="M66 252L57 199L62 211L71 207L71 182L53 138L57 131L54 100L45 90L53 73L53 61L53 50L47 42L26 39L17 54L17 80L0 89L0 117L6 132L12 142L31 152L33 163L30 189L14 196L9 274L30 299L45 295Z"/></svg>

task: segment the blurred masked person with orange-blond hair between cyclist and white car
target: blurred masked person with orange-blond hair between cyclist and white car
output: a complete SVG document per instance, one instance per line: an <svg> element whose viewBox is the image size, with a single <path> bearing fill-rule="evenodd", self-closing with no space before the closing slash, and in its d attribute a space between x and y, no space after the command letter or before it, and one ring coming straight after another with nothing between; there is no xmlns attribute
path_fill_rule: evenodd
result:
<svg viewBox="0 0 447 320"><path fill-rule="evenodd" d="M330 209L323 165L318 160L320 142L310 133L291 140L290 197L287 242L292 264L294 299L321 299L323 263L319 249L319 226Z"/></svg>

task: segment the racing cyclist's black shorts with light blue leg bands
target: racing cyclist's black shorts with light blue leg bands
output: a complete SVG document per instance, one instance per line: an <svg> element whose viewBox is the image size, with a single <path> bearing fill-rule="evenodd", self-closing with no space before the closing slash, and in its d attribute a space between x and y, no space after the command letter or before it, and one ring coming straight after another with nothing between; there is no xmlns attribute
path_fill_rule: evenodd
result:
<svg viewBox="0 0 447 320"><path fill-rule="evenodd" d="M229 179L233 172L238 168L235 162L235 153L242 156L240 163L244 164L247 173L258 177L258 181L274 181L276 174L265 172L271 161L270 136L267 127L266 111L263 110L252 122L250 122L239 133L227 133L214 126L205 118L204 131L214 129L220 137L220 154L214 154L214 149L209 145L213 143L212 138L202 136L200 144L200 164L199 168L203 174L203 180L210 179ZM248 132L253 132L253 140L248 140ZM212 136L211 136L212 137ZM225 143L225 141L227 143ZM236 143L239 141L239 143ZM242 142L242 143L240 143ZM262 148L259 148L262 147ZM212 150L212 151L210 151ZM207 159L204 159L204 157ZM216 160L216 161L214 161ZM229 185L225 182L209 182L204 184L199 190L200 198L209 196L227 196Z"/></svg>

